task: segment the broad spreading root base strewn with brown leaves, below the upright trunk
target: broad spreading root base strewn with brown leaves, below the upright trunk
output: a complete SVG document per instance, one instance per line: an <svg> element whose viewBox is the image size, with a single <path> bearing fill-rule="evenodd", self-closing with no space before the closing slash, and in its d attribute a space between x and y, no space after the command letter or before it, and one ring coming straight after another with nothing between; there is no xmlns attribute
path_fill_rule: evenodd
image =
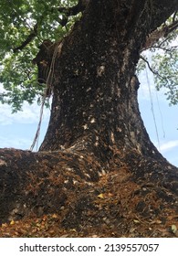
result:
<svg viewBox="0 0 178 256"><path fill-rule="evenodd" d="M109 171L78 152L1 149L0 236L177 236L177 169L126 159Z"/></svg>

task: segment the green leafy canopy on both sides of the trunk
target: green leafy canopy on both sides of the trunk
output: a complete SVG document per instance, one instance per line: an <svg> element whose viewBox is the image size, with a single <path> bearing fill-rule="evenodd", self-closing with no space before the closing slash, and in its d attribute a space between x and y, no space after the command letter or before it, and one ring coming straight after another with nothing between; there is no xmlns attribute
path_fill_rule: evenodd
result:
<svg viewBox="0 0 178 256"><path fill-rule="evenodd" d="M37 66L32 63L45 39L52 42L68 35L81 16L87 1L76 0L2 0L0 4L0 101L21 110L24 101L41 102L45 84L37 82ZM173 14L150 37L141 52L138 72L149 65L157 89L166 89L167 98L178 102L177 37L178 15ZM152 67L145 50L152 48ZM158 49L158 50L156 50Z"/></svg>

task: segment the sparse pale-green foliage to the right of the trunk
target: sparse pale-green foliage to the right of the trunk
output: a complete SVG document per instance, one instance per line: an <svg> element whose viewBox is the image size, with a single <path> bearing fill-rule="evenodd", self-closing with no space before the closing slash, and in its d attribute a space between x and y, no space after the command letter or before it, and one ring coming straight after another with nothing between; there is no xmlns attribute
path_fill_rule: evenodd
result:
<svg viewBox="0 0 178 256"><path fill-rule="evenodd" d="M165 24L160 27L160 31L165 27L172 27L173 22L177 27L178 14L171 16ZM178 29L173 30L170 34L158 38L151 48L141 53L137 72L149 66L153 75L155 86L158 91L161 89L165 91L167 100L171 104L178 103ZM151 51L151 59L147 59L147 51ZM150 61L150 62L149 62Z"/></svg>

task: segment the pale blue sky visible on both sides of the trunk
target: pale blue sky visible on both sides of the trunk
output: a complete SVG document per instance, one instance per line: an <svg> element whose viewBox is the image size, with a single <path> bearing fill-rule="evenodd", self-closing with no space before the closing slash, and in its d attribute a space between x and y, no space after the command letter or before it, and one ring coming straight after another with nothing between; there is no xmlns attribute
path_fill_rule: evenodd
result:
<svg viewBox="0 0 178 256"><path fill-rule="evenodd" d="M178 166L178 105L169 106L163 91L156 91L148 70L140 77L139 105L141 117L152 143L173 165ZM150 88L150 89L149 89ZM0 88L1 90L1 88ZM24 103L23 112L12 114L8 105L0 104L0 148L29 150L37 132L40 107ZM38 146L47 132L50 110L45 109ZM37 146L34 147L37 151Z"/></svg>

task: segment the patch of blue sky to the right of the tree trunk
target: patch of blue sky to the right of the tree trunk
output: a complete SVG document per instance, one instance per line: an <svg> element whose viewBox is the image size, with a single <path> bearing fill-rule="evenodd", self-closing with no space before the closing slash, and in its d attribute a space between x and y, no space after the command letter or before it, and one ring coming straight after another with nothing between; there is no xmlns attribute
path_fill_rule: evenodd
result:
<svg viewBox="0 0 178 256"><path fill-rule="evenodd" d="M146 130L162 155L178 166L178 105L170 106L164 91L156 91L148 69L142 72L140 82L139 105Z"/></svg>

